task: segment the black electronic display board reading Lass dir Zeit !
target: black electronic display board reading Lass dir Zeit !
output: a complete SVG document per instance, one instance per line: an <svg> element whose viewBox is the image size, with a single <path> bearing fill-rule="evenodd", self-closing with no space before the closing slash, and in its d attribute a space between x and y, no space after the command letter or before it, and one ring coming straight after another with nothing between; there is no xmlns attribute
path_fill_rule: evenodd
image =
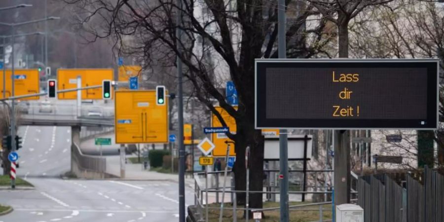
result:
<svg viewBox="0 0 444 222"><path fill-rule="evenodd" d="M257 59L257 129L436 129L438 59Z"/></svg>

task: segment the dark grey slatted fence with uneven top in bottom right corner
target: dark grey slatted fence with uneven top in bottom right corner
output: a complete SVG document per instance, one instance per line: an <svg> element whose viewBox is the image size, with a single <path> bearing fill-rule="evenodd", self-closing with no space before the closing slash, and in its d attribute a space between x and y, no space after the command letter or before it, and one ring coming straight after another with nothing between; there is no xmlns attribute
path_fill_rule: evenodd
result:
<svg viewBox="0 0 444 222"><path fill-rule="evenodd" d="M405 187L388 175L361 177L364 222L444 222L444 176L427 167L416 176L407 174Z"/></svg>

